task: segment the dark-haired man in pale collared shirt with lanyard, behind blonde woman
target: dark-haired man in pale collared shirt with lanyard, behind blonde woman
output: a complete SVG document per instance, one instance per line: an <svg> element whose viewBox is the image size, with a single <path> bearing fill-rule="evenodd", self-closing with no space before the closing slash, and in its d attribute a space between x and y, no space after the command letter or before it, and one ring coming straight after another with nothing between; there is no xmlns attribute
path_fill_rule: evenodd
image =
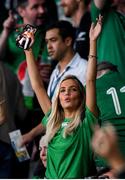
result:
<svg viewBox="0 0 125 180"><path fill-rule="evenodd" d="M52 59L56 59L58 64L54 69L50 83L48 86L48 96L50 99L54 97L57 84L67 75L76 75L82 84L86 81L87 62L80 58L78 53L73 51L74 33L72 25L67 21L59 21L49 26L46 30L46 43L49 55ZM33 56L32 50L26 51L26 58ZM40 79L41 81L41 79ZM36 83L38 80L36 81ZM52 89L52 90L51 90ZM44 98L42 97L44 102ZM41 103L40 102L40 103ZM47 108L48 110L48 108ZM47 111L44 110L44 113ZM41 123L38 125L38 129ZM36 128L24 135L24 143L31 141L40 131Z"/></svg>

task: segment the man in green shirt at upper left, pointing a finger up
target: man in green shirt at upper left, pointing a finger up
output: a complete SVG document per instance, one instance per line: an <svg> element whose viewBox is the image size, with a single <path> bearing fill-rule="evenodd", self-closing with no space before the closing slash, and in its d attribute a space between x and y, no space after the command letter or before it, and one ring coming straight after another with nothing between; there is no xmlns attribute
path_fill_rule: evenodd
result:
<svg viewBox="0 0 125 180"><path fill-rule="evenodd" d="M33 108L33 91L30 86L28 73L26 73L26 61L24 53L16 46L16 37L19 32L15 29L30 24L38 28L36 41L33 46L34 56L40 64L40 68L44 68L43 80L47 84L50 75L50 65L42 65L48 63L48 55L44 42L45 24L49 23L47 16L47 5L45 0L18 0L17 11L21 20L15 19L12 11L9 11L9 17L3 23L3 31L0 36L0 57L6 62L18 79L23 84L23 94L25 103L29 109ZM17 24L18 23L18 24ZM27 84L29 86L27 86Z"/></svg>

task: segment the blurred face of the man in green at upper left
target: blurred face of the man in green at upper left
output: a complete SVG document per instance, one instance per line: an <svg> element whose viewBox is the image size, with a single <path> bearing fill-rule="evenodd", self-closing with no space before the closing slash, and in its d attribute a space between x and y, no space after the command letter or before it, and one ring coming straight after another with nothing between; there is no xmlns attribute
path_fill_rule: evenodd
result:
<svg viewBox="0 0 125 180"><path fill-rule="evenodd" d="M45 0L28 0L28 5L21 8L19 14L25 24L41 26L45 23L46 12Z"/></svg>

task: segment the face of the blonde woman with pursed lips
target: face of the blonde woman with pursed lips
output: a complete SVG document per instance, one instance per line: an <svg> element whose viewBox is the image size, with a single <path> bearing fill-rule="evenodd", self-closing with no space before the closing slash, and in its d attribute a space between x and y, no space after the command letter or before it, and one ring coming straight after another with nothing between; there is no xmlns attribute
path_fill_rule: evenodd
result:
<svg viewBox="0 0 125 180"><path fill-rule="evenodd" d="M67 79L61 83L59 100L64 110L77 110L81 105L81 94L79 86L75 80Z"/></svg>

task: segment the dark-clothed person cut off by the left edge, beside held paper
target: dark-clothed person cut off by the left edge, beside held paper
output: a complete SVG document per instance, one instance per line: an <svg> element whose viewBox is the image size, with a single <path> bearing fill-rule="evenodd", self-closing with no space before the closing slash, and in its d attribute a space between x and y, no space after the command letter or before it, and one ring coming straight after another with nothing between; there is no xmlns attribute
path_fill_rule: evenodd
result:
<svg viewBox="0 0 125 180"><path fill-rule="evenodd" d="M3 122L1 122L0 119L0 178L27 178L26 174L28 174L28 172L26 171L28 171L28 162L18 162L9 139L9 132L16 130L17 124L22 124L21 121L25 119L27 109L24 106L21 85L16 75L2 62L0 62L0 101L1 100L0 115L2 109L4 111L2 113ZM25 169L22 169L24 164Z"/></svg>

